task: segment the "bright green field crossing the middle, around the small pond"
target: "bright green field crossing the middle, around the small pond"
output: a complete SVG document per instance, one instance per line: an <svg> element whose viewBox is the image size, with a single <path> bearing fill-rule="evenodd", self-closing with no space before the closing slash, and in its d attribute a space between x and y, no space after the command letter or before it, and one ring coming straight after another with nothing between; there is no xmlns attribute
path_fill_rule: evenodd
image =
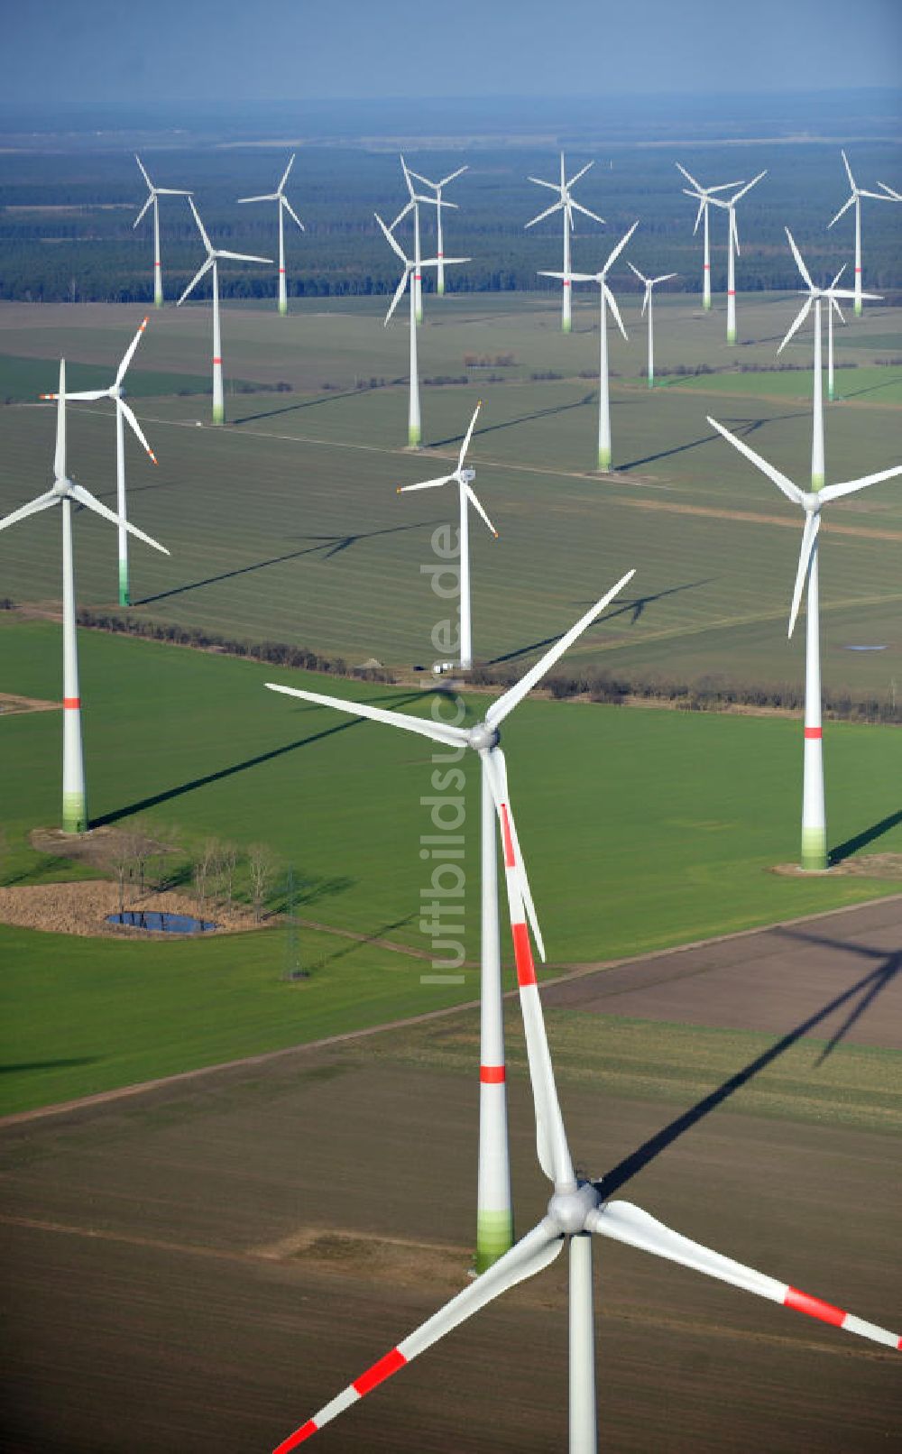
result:
<svg viewBox="0 0 902 1454"><path fill-rule="evenodd" d="M89 810L95 823L176 824L266 840L295 867L298 912L319 923L428 949L419 836L431 755L420 739L292 704L268 678L308 680L418 710L418 692L278 672L256 663L80 632ZM0 616L3 689L57 699L60 631ZM484 698L476 704L484 708ZM422 710L422 708L420 708ZM58 877L26 843L58 820L60 714L0 721L4 880ZM524 852L550 963L639 954L892 891L892 881L799 880L770 872L797 851L800 731L783 718L687 715L586 704L524 702L505 731ZM892 728L831 727L831 845L845 852L898 798ZM466 944L477 955L477 814L470 823ZM842 845L847 845L844 848ZM902 824L874 838L902 849ZM589 909L586 906L591 906ZM422 984L429 964L306 935L310 981L281 979L284 931L195 944L65 939L0 929L4 963L3 1095L7 1106L105 1089L153 1075L428 1012L479 993Z"/></svg>

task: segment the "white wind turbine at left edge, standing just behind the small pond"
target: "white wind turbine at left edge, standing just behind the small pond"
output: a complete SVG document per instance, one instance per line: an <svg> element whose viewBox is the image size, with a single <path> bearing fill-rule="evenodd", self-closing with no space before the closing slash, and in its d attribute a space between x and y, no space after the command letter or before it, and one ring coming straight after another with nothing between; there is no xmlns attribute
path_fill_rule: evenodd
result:
<svg viewBox="0 0 902 1454"><path fill-rule="evenodd" d="M87 830L87 797L84 792L84 753L81 749L81 699L79 695L79 643L76 635L76 574L73 566L73 505L84 505L95 515L113 525L125 523L131 535L169 555L164 545L151 539L137 525L122 522L118 515L68 478L65 470L65 364L60 361L60 387L57 393L57 448L54 452L54 483L45 494L13 510L0 521L0 531L7 525L47 510L51 505L63 506L63 832L84 833Z"/></svg>

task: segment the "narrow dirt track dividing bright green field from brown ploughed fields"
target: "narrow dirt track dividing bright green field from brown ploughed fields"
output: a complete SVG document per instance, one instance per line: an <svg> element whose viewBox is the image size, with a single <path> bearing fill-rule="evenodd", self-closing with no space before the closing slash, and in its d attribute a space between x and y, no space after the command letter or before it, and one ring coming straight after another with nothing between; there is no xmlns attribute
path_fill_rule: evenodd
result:
<svg viewBox="0 0 902 1454"><path fill-rule="evenodd" d="M882 894L877 899L864 899L854 904L839 904L834 909L822 909L819 913L799 915L794 919L778 919L773 923L755 925L749 929L735 929L730 933L717 933L707 939L691 939L685 944L674 944L663 949L653 949L650 952L646 951L644 954L631 954L617 960L598 960L592 963L583 961L579 964L557 965L563 968L564 973L548 979L543 977L540 980L540 987L550 989L554 984L586 979L589 974L598 974L604 970L628 968L631 964L666 960L675 954L682 954L690 949L703 949L714 944L729 944L733 939L746 939L755 933L767 933L771 929L793 928L799 923L813 923L819 919L829 919L832 915L854 913L858 909L873 909L874 906L885 903L902 903L902 893ZM518 990L508 990L503 997L506 1000L515 1000L518 995ZM348 1029L338 1035L326 1035L322 1040L308 1040L303 1044L284 1045L281 1050L265 1050L255 1056L242 1056L237 1060L218 1061L214 1066L199 1066L196 1070L179 1070L172 1076L157 1076L154 1080L140 1080L135 1085L116 1086L111 1090L99 1090L95 1095L79 1096L74 1101L58 1101L52 1105L33 1106L31 1111L15 1111L12 1115L0 1117L0 1131L6 1127L25 1125L29 1121L45 1120L51 1115L67 1115L74 1111L89 1109L90 1106L106 1105L113 1101L124 1101L127 1098L145 1095L151 1090L159 1090L163 1086L186 1085L191 1080L199 1080L204 1076L211 1076L217 1072L260 1066L272 1060L281 1060L285 1056L298 1056L316 1050L327 1050L332 1045L343 1045L351 1041L365 1040L370 1035L381 1035L383 1032L391 1029L404 1029L409 1025L423 1025L434 1019L444 1019L448 1015L458 1015L464 1011L479 1009L479 999L470 999L461 1002L460 1005L447 1005L442 1009L426 1011L423 1015L410 1015L406 1019L386 1021L381 1025L365 1025L362 1029Z"/></svg>

